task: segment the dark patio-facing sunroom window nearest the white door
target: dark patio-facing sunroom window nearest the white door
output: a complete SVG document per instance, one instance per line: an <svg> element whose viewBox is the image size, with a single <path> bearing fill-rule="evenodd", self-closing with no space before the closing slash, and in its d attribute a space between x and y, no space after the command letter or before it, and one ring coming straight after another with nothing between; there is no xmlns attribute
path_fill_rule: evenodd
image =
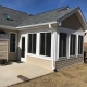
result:
<svg viewBox="0 0 87 87"><path fill-rule="evenodd" d="M28 34L28 53L36 53L36 34Z"/></svg>

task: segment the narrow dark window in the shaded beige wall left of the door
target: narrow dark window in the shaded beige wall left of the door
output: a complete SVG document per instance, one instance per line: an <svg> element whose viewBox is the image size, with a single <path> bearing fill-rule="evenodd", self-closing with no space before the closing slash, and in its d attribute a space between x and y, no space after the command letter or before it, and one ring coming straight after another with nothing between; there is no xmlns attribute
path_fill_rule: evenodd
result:
<svg viewBox="0 0 87 87"><path fill-rule="evenodd" d="M15 34L10 33L10 52L15 52Z"/></svg>

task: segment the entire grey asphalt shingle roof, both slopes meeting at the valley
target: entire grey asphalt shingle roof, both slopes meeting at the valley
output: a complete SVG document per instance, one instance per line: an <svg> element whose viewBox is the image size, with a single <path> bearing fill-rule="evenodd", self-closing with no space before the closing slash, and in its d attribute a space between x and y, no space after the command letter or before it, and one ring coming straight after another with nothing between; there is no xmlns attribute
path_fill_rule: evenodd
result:
<svg viewBox="0 0 87 87"><path fill-rule="evenodd" d="M44 13L39 13L36 15L28 15L28 13L0 5L0 25L17 27L17 26L53 22L60 20L61 17L63 17L73 10L74 9L67 9L67 7L64 7L47 11ZM7 17L3 14L8 14L13 21L7 20Z"/></svg>

